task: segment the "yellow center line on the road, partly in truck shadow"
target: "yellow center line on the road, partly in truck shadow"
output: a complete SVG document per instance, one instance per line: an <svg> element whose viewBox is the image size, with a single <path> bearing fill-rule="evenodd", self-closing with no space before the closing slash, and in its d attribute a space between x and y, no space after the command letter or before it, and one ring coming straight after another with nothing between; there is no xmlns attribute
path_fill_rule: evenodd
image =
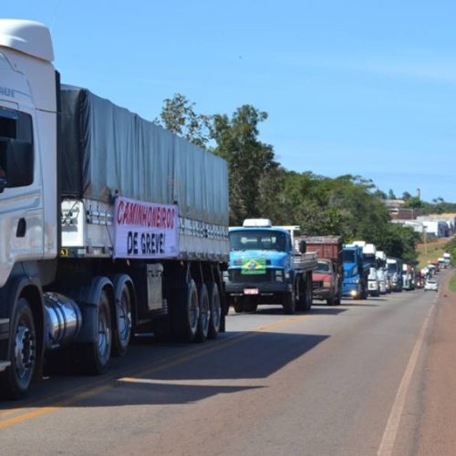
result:
<svg viewBox="0 0 456 456"><path fill-rule="evenodd" d="M213 345L212 347L208 347L207 349L197 348L196 351L186 354L184 356L179 354L179 355L177 355L177 358L171 357L171 358L168 358L168 360L164 360L164 362L159 361L161 363L159 366L148 366L147 368L140 367L140 368L127 369L127 371L125 372L125 375L122 376L121 378L133 378L133 376L144 377L144 376L159 372L161 370L164 370L166 368L172 368L175 366L179 366L180 364L183 364L192 359L202 358L202 356L208 355L215 351L219 351L219 350L223 349L224 347L231 347L235 344L243 342L246 339L255 337L256 335L258 335L258 333L271 331L273 329L277 329L278 327L290 326L298 321L305 320L309 317L310 316L308 316L308 315L292 316L289 318L285 318L283 320L276 321L274 323L270 323L268 325L257 326L253 330L246 332L240 336L230 337L228 340L225 340L225 341L218 341L215 343L215 345ZM130 372L130 375L128 375L128 372ZM93 396L96 396L97 394L100 394L102 392L105 392L109 389L114 388L118 384L119 379L121 379L121 378L119 378L119 374L110 375L108 378L105 376L105 377L101 378L100 380L91 383L91 385L93 385L93 387L90 385L85 385L83 387L73 389L72 391L67 391L67 392L59 393L57 395L45 398L45 399L40 399L36 403L32 403L27 407L28 409L29 408L35 408L35 409L26 411L25 413L22 413L20 415L12 417L12 418L7 418L5 420L2 420L2 418L4 418L4 417L15 414L15 413L19 412L20 410L22 410L21 408L7 409L3 412L0 412L0 429L5 429L7 427L14 426L18 423L22 423L27 420L33 420L35 418L46 415L47 413L51 413L53 411L57 411L58 409L62 409L63 407L71 406L80 400L88 399ZM101 382L106 383L107 381L109 383L102 385L102 386L97 386L97 385L99 385L99 383L101 383ZM83 389L82 392L78 392L81 389ZM60 397L64 394L70 394L71 397L68 399L57 401L54 404L50 404L48 406L44 406L44 407L39 406L40 403L44 403L44 402L47 402L52 399L57 399L58 397Z"/></svg>

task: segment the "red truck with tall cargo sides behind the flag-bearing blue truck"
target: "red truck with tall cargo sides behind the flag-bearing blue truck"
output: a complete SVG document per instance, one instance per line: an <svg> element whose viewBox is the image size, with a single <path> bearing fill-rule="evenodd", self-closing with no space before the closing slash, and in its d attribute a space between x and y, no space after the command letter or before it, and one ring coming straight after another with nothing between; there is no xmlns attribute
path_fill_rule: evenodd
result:
<svg viewBox="0 0 456 456"><path fill-rule="evenodd" d="M326 300L328 306L340 304L342 295L341 236L306 236L307 252L316 252L316 268L312 287L315 299Z"/></svg>

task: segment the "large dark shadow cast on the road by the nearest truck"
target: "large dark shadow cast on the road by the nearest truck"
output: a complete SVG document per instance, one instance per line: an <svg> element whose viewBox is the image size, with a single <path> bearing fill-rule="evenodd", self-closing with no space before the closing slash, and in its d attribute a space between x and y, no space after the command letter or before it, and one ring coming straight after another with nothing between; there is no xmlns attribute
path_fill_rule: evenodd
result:
<svg viewBox="0 0 456 456"><path fill-rule="evenodd" d="M312 334L228 332L203 346L133 346L130 357L115 359L105 377L53 376L35 384L30 399L4 402L2 409L46 408L56 404L185 404L222 393L267 388L266 378L306 355L326 338ZM154 359L153 351L161 353L159 360ZM0 419L1 415L0 409Z"/></svg>

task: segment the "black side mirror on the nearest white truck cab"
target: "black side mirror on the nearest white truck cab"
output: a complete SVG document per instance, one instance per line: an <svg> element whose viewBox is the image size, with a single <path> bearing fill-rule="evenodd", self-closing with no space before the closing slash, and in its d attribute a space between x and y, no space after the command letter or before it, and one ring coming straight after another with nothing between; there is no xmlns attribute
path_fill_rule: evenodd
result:
<svg viewBox="0 0 456 456"><path fill-rule="evenodd" d="M30 185L33 170L33 145L30 142L0 138L0 192L6 187Z"/></svg>

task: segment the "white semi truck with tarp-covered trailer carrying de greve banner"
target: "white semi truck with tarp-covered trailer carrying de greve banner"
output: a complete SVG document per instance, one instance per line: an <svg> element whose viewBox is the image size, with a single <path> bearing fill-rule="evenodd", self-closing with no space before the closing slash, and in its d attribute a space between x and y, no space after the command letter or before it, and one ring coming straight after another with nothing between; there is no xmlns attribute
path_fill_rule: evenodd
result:
<svg viewBox="0 0 456 456"><path fill-rule="evenodd" d="M0 20L0 394L48 354L89 374L150 331L224 329L226 162L60 84L46 26Z"/></svg>

